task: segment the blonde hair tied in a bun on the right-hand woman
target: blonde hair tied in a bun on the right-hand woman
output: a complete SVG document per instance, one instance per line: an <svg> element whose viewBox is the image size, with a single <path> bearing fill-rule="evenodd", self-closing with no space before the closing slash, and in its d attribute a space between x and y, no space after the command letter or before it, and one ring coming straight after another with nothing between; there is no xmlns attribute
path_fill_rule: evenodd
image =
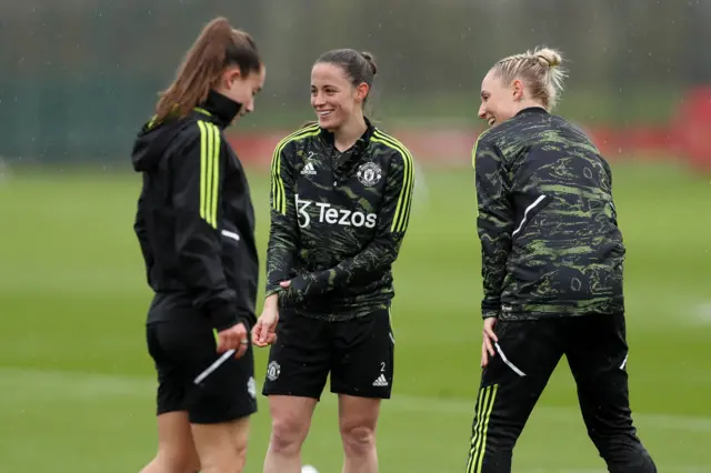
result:
<svg viewBox="0 0 711 473"><path fill-rule="evenodd" d="M498 61L493 70L504 84L521 79L533 99L539 100L547 110L558 104L563 91L567 71L560 67L561 53L550 48L535 48L522 54L513 54Z"/></svg>

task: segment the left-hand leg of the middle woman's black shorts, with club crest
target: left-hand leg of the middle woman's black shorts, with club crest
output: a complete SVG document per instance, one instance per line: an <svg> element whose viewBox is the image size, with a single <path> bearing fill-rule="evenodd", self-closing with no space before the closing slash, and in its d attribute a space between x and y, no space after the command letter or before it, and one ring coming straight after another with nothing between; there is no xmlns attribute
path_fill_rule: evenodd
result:
<svg viewBox="0 0 711 473"><path fill-rule="evenodd" d="M331 348L328 322L284 311L269 350L262 393L319 400L329 375Z"/></svg>

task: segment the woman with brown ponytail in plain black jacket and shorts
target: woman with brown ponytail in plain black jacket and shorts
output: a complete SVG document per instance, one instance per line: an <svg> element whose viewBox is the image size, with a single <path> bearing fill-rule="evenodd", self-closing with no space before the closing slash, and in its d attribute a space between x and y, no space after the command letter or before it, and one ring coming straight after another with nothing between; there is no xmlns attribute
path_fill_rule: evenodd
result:
<svg viewBox="0 0 711 473"><path fill-rule="evenodd" d="M154 292L158 454L143 473L237 473L257 412L248 333L259 263L242 165L223 130L264 82L254 41L218 18L188 51L133 145L134 230Z"/></svg>

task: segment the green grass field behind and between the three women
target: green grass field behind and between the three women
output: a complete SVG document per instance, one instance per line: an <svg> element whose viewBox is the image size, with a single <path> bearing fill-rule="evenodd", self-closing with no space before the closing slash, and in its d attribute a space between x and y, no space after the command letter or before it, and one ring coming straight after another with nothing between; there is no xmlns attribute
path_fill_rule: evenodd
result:
<svg viewBox="0 0 711 473"><path fill-rule="evenodd" d="M709 177L613 167L628 245L632 407L664 473L711 472ZM263 254L268 181L251 173ZM382 472L462 472L480 370L480 265L469 170L427 171L395 266L393 399ZM137 472L156 449L150 292L132 234L139 179L16 173L0 182L0 472ZM266 351L257 359L263 379ZM261 472L267 403L248 472ZM340 472L332 395L304 462ZM603 472L561 362L514 455L514 472Z"/></svg>

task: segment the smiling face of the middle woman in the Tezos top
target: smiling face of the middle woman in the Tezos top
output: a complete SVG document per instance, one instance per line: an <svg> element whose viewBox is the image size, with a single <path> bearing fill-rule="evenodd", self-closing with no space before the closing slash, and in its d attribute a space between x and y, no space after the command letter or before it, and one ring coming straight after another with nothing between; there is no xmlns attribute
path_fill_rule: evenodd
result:
<svg viewBox="0 0 711 473"><path fill-rule="evenodd" d="M338 64L319 62L311 70L311 107L319 125L334 131L351 119L362 115L368 84L353 85Z"/></svg>

